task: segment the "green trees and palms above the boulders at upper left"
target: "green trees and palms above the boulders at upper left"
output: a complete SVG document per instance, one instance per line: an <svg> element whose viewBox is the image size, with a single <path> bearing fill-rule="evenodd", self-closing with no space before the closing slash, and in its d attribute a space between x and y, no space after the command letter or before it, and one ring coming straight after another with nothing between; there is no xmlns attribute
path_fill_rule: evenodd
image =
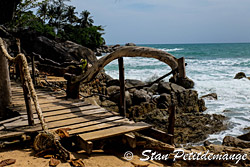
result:
<svg viewBox="0 0 250 167"><path fill-rule="evenodd" d="M9 25L29 28L44 36L70 40L91 49L103 45L104 29L93 25L90 12L84 10L78 16L76 8L66 5L65 1L69 0L22 0Z"/></svg>

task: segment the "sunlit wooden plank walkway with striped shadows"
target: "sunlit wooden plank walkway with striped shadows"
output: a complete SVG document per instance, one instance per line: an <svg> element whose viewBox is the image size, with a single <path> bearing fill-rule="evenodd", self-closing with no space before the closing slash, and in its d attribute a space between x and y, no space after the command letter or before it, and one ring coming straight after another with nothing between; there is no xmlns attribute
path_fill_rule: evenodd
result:
<svg viewBox="0 0 250 167"><path fill-rule="evenodd" d="M12 82L11 89L12 105L10 109L19 112L20 116L0 122L0 140L42 130L33 105L35 126L28 126L20 84ZM64 92L51 92L45 89L36 91L48 128L50 130L70 128L70 135L77 135L86 143L151 128L149 124L134 123L119 116L118 113L107 111L100 106L87 104L80 100L66 100Z"/></svg>

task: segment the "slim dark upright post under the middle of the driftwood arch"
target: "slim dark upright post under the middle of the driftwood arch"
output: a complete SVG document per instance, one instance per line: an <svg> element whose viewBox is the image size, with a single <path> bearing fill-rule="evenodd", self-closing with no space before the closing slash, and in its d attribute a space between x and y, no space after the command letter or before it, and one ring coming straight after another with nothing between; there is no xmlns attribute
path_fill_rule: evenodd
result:
<svg viewBox="0 0 250 167"><path fill-rule="evenodd" d="M120 114L126 117L126 99L125 99L125 77L124 77L124 64L123 58L118 59L119 63L119 80L120 80Z"/></svg>

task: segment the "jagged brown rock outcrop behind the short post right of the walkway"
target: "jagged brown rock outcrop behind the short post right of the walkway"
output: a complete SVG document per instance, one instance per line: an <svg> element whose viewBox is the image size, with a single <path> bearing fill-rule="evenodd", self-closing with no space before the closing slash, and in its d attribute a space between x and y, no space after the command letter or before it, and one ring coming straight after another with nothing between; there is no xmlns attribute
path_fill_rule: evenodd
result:
<svg viewBox="0 0 250 167"><path fill-rule="evenodd" d="M144 121L167 131L168 109L159 109L157 104L144 102L129 108L130 117ZM226 129L225 117L203 113L177 113L175 121L175 143L190 143L205 140L209 134Z"/></svg>

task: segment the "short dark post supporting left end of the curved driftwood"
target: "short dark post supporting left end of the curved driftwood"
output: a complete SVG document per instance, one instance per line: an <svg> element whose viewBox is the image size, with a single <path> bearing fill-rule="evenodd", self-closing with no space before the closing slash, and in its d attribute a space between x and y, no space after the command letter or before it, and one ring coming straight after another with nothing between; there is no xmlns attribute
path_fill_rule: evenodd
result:
<svg viewBox="0 0 250 167"><path fill-rule="evenodd" d="M72 84L72 77L75 75L65 73L64 78L67 80L67 98L72 98L72 99L79 99L79 91L80 91L80 82Z"/></svg>

